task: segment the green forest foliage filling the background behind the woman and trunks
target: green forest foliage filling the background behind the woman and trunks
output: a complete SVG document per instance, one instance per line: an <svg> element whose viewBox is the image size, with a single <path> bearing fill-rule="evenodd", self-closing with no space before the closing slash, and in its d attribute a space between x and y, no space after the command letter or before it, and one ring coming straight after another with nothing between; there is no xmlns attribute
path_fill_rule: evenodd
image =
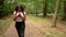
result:
<svg viewBox="0 0 66 37"><path fill-rule="evenodd" d="M64 1L65 0L62 0L61 3L59 15L63 15L64 12ZM0 9L3 10L3 15L12 13L16 4L22 4L28 13L43 13L43 5L45 2L47 4L47 13L53 13L56 7L56 0L14 0L12 3L9 3L9 0L4 0L3 2L4 7L1 5L2 3L0 3Z"/></svg>

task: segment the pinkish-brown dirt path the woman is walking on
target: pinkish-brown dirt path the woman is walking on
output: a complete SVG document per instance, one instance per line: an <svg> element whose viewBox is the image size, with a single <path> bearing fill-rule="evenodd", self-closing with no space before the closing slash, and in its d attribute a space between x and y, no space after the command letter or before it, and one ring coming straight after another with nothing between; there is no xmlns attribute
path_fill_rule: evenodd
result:
<svg viewBox="0 0 66 37"><path fill-rule="evenodd" d="M14 23L12 23L12 25L7 29L3 37L18 37ZM32 23L26 21L25 37L44 37L44 36L41 36L37 33L37 30L32 26Z"/></svg>

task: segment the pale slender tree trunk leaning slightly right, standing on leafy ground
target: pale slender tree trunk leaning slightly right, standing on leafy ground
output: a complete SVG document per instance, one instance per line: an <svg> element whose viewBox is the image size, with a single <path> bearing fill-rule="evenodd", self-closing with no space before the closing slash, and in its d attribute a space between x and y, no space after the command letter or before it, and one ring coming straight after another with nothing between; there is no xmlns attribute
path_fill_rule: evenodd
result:
<svg viewBox="0 0 66 37"><path fill-rule="evenodd" d="M62 0L57 0L57 3L56 3L55 12L54 12L54 15L53 15L53 27L56 27L57 14L59 12L61 1Z"/></svg>

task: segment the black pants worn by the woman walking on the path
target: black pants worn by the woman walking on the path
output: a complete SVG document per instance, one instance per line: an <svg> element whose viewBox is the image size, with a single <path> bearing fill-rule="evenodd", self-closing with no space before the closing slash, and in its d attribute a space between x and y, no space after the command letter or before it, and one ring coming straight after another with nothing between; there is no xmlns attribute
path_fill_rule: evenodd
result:
<svg viewBox="0 0 66 37"><path fill-rule="evenodd" d="M15 22L15 28L18 30L19 37L24 37L25 23L24 22Z"/></svg>

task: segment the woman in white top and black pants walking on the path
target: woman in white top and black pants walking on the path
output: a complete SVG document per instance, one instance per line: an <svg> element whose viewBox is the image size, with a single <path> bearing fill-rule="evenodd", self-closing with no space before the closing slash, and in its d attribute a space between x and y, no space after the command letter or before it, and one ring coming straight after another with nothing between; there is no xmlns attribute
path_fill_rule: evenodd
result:
<svg viewBox="0 0 66 37"><path fill-rule="evenodd" d="M18 30L19 37L24 37L25 30L25 11L22 5L16 5L15 11L13 12L15 22L15 28Z"/></svg>

